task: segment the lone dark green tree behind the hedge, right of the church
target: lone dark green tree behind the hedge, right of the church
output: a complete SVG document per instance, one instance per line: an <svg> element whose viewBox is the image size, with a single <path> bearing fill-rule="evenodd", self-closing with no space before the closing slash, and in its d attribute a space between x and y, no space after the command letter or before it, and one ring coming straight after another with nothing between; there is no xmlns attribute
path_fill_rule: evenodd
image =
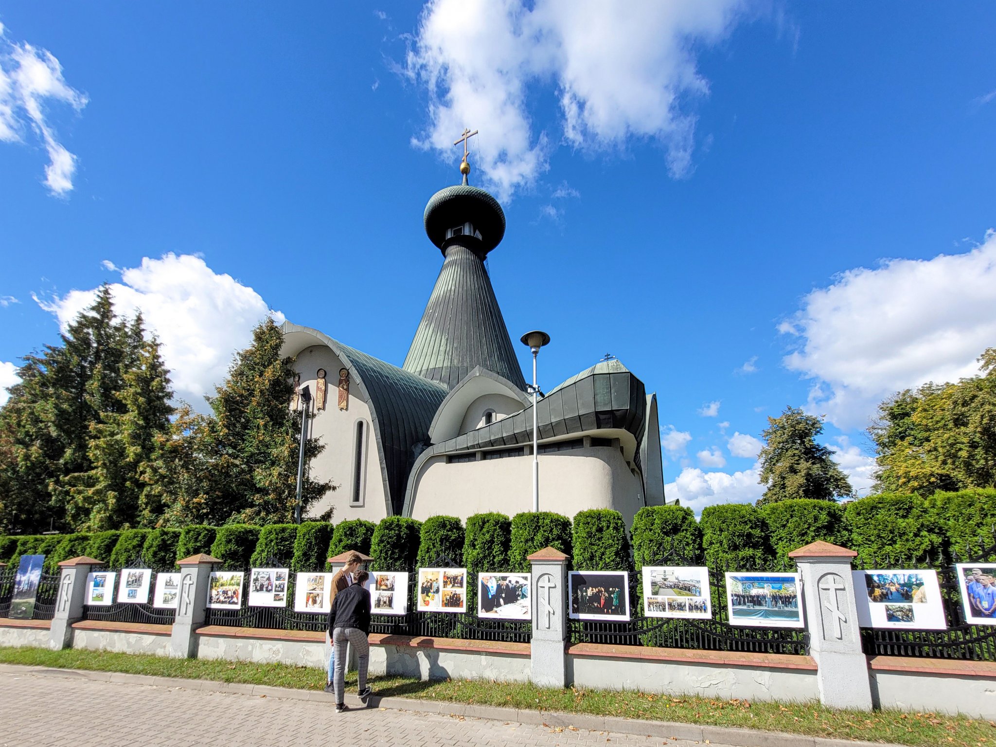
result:
<svg viewBox="0 0 996 747"><path fill-rule="evenodd" d="M798 407L786 407L779 417L769 417L762 433L764 447L758 454L761 476L767 485L757 505L789 498L832 501L851 495L847 475L832 458L833 451L816 442L823 421Z"/></svg>

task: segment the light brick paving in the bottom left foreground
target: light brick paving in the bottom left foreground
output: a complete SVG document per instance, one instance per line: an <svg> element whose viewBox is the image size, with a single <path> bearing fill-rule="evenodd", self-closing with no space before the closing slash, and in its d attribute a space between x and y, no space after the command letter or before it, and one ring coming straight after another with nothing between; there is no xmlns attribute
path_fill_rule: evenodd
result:
<svg viewBox="0 0 996 747"><path fill-rule="evenodd" d="M307 700L0 672L0 745L132 744L689 747L699 743L391 709L336 713L329 703ZM713 743L712 747L723 746Z"/></svg>

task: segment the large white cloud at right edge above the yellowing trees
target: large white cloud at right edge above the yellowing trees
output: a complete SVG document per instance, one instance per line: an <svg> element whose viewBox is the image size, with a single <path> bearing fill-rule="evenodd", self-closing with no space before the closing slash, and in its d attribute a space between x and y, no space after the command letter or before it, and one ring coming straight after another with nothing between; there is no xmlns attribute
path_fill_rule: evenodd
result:
<svg viewBox="0 0 996 747"><path fill-rule="evenodd" d="M996 233L964 254L860 267L808 294L779 325L798 337L783 363L814 379L808 409L866 426L889 394L978 373L996 341Z"/></svg>

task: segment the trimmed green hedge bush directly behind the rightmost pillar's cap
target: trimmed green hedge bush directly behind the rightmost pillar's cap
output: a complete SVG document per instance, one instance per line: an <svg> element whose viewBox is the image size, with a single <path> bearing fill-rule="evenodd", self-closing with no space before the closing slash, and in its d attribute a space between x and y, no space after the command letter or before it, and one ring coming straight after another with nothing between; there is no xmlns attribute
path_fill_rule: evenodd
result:
<svg viewBox="0 0 996 747"><path fill-rule="evenodd" d="M768 523L768 538L775 557L786 563L789 553L823 540L848 547L851 536L844 523L844 506L835 501L794 498L760 507Z"/></svg>

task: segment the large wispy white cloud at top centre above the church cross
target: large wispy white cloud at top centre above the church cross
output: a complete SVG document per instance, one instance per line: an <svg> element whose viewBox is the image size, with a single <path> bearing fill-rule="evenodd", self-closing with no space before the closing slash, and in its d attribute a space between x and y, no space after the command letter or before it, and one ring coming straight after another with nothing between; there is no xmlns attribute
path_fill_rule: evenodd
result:
<svg viewBox="0 0 996 747"><path fill-rule="evenodd" d="M560 132L587 150L653 139L681 176L694 144L690 100L709 93L697 48L722 40L743 5L632 0L623 13L598 0L430 0L405 64L428 93L428 124L413 142L452 157L457 134L481 127L475 157L500 198L547 170ZM527 99L539 87L560 109L534 126Z"/></svg>

